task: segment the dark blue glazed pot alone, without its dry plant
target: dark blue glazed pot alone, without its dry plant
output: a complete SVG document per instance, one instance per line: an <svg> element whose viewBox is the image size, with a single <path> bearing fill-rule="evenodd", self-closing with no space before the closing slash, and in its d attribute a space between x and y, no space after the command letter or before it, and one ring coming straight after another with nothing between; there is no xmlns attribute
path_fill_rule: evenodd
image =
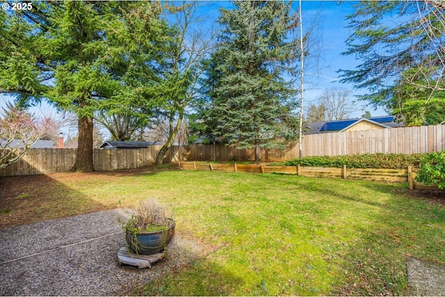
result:
<svg viewBox="0 0 445 297"><path fill-rule="evenodd" d="M168 219L168 228L153 232L139 232L136 236L127 231L127 246L132 253L152 255L164 250L175 236L175 221Z"/></svg>

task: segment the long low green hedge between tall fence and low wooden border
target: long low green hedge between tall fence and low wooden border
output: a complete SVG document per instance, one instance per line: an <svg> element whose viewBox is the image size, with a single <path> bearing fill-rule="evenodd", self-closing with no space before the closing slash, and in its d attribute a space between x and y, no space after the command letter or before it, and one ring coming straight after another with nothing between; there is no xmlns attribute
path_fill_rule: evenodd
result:
<svg viewBox="0 0 445 297"><path fill-rule="evenodd" d="M419 167L421 159L427 154L418 153L405 155L402 153L374 153L364 155L337 155L314 156L302 159L293 159L285 162L286 166L310 167L343 167L376 168L376 169L403 169L407 166Z"/></svg>

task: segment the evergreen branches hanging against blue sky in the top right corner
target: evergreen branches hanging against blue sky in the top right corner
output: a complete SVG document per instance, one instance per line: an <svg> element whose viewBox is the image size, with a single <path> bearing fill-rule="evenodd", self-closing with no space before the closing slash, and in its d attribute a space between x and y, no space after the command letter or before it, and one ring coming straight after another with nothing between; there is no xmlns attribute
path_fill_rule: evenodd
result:
<svg viewBox="0 0 445 297"><path fill-rule="evenodd" d="M443 3L362 1L355 7L348 17L353 34L343 54L363 62L355 70L341 70L342 81L367 88L371 93L360 99L392 110L406 124L444 121L444 116L424 116L432 105L445 102Z"/></svg>

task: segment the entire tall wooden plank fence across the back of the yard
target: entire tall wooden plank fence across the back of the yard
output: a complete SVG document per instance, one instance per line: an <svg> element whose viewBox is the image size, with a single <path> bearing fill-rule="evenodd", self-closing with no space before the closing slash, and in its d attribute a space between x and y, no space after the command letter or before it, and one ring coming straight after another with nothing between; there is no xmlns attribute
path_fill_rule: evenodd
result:
<svg viewBox="0 0 445 297"><path fill-rule="evenodd" d="M96 170L131 169L154 163L162 146L139 149L93 150ZM362 153L430 153L445 149L445 125L403 127L305 135L303 157L312 155L353 155ZM280 149L261 148L264 162L298 158L298 142ZM69 171L76 159L74 148L32 148L23 160L0 170L0 176ZM225 144L172 146L164 162L253 161L254 149L236 149Z"/></svg>

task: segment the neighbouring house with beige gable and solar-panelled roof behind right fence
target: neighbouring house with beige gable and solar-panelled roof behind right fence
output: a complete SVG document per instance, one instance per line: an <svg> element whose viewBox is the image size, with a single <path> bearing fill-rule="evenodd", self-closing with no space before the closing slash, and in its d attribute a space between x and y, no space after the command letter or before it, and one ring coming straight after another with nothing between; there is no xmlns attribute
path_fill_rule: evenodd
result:
<svg viewBox="0 0 445 297"><path fill-rule="evenodd" d="M339 121L309 123L307 124L309 130L306 134L387 129L400 126L403 126L403 124L394 122L393 116L371 117L369 119L342 119Z"/></svg>

